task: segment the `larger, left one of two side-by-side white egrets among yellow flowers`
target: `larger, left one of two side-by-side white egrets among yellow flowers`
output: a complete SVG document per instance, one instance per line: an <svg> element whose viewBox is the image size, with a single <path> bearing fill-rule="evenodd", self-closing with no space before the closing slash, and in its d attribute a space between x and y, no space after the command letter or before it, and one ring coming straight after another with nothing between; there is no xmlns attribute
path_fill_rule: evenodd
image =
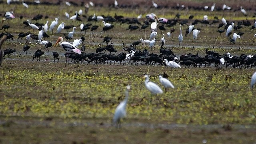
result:
<svg viewBox="0 0 256 144"><path fill-rule="evenodd" d="M151 99L150 102L152 101L152 94L162 94L163 90L154 82L149 81L149 76L147 74L144 75L145 79L145 86L146 88L151 92Z"/></svg>

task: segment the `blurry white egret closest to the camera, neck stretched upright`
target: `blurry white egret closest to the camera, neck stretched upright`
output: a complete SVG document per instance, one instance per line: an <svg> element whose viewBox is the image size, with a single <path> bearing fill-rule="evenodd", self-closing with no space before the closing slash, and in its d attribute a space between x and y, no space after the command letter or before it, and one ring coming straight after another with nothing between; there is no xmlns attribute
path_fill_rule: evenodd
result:
<svg viewBox="0 0 256 144"><path fill-rule="evenodd" d="M125 99L124 101L120 102L120 104L116 107L115 114L113 117L113 124L116 125L116 127L118 127L118 124L120 124L121 119L126 116L126 105L128 102L130 89L130 86L126 86Z"/></svg>

